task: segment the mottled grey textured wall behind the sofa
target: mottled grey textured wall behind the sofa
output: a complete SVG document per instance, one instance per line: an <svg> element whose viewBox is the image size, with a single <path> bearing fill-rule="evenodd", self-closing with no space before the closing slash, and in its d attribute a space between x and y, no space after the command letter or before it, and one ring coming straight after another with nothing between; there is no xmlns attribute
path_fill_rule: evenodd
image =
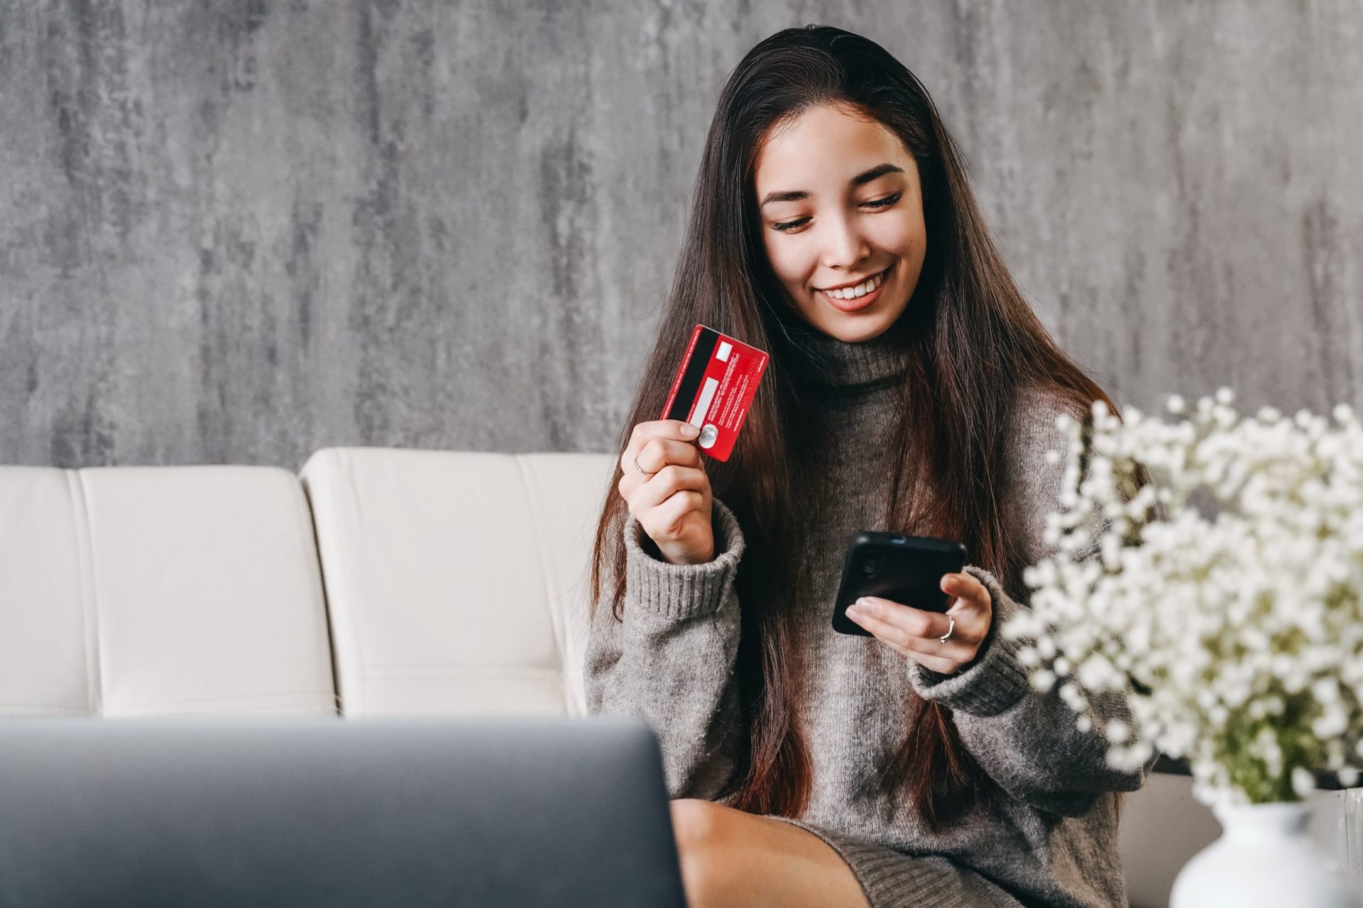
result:
<svg viewBox="0 0 1363 908"><path fill-rule="evenodd" d="M1363 402L1363 8L0 4L0 463L613 447L714 101L825 22L924 82L1119 403Z"/></svg>

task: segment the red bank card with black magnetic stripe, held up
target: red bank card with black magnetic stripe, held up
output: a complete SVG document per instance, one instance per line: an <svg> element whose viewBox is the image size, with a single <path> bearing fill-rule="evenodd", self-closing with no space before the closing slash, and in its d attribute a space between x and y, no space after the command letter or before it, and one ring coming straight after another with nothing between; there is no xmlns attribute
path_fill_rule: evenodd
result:
<svg viewBox="0 0 1363 908"><path fill-rule="evenodd" d="M701 451L728 460L766 361L756 347L696 325L660 418L690 422L701 430Z"/></svg>

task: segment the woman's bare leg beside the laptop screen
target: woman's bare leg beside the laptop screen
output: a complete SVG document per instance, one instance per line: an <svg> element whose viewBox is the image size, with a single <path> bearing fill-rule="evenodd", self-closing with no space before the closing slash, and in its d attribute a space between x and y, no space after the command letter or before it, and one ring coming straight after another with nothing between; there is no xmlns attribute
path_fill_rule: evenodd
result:
<svg viewBox="0 0 1363 908"><path fill-rule="evenodd" d="M870 908L838 852L799 826L687 798L672 829L690 908Z"/></svg>

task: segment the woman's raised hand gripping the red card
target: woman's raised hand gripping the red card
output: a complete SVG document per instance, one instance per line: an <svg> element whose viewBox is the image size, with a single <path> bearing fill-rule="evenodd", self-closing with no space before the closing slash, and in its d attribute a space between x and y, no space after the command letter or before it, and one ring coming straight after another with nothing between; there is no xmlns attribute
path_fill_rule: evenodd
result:
<svg viewBox="0 0 1363 908"><path fill-rule="evenodd" d="M680 419L641 422L620 455L620 496L643 532L673 565L714 558L710 528L710 478L694 440L695 426ZM635 470L634 464L647 474Z"/></svg>

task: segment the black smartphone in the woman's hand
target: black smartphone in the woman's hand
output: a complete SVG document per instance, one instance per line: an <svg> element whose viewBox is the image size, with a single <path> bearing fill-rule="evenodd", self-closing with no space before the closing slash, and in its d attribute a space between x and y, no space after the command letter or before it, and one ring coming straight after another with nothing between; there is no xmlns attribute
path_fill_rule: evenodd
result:
<svg viewBox="0 0 1363 908"><path fill-rule="evenodd" d="M844 634L871 636L846 615L848 606L860 596L946 611L951 607L951 596L942 592L942 576L961 573L964 568L965 546L960 542L863 530L848 540L842 583L833 606L833 629Z"/></svg>

